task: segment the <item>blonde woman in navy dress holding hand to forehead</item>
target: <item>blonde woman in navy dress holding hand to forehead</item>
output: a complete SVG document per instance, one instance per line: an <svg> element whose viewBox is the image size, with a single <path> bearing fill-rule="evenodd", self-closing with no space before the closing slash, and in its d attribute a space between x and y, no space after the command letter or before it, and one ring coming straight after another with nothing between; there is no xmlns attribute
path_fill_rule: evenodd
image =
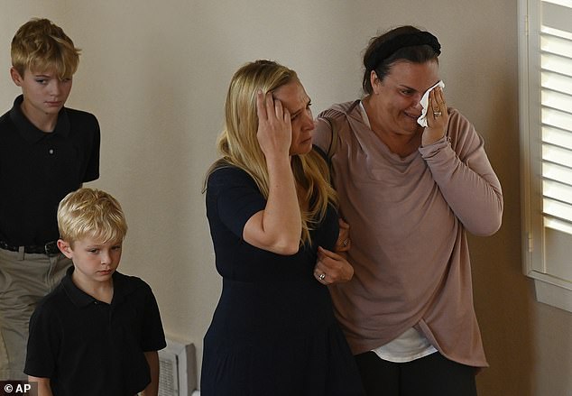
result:
<svg viewBox="0 0 572 396"><path fill-rule="evenodd" d="M296 73L269 60L228 88L206 181L223 290L204 340L205 396L362 394L327 287L353 268L332 252L337 199L309 106Z"/></svg>

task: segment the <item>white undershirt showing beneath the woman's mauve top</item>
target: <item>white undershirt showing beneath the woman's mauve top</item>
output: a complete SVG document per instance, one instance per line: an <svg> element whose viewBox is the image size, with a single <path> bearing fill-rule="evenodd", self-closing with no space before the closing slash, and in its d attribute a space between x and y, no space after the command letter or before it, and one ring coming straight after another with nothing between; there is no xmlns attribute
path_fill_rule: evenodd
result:
<svg viewBox="0 0 572 396"><path fill-rule="evenodd" d="M364 123L371 129L372 126L369 123L369 118L361 101L359 102L359 110ZM411 327L405 330L401 336L385 345L372 349L372 351L383 360L393 363L405 363L434 354L437 352L437 349L429 343L426 336L423 336L414 327Z"/></svg>

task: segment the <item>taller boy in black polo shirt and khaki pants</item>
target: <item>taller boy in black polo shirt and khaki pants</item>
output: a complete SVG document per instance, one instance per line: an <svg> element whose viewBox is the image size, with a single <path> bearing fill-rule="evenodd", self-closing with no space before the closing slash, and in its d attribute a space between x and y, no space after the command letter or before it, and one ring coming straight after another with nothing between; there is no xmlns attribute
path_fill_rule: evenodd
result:
<svg viewBox="0 0 572 396"><path fill-rule="evenodd" d="M97 119L64 107L78 69L73 41L34 19L11 54L23 95L0 117L0 381L26 379L28 321L71 264L56 246L58 203L99 177Z"/></svg>

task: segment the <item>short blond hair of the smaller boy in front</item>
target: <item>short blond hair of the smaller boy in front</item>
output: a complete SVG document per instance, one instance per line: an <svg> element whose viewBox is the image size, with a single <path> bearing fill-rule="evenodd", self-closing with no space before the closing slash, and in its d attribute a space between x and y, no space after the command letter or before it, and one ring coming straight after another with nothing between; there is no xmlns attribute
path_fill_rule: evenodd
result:
<svg viewBox="0 0 572 396"><path fill-rule="evenodd" d="M60 238L70 245L86 237L102 243L122 242L127 223L117 199L99 189L70 192L58 206Z"/></svg>

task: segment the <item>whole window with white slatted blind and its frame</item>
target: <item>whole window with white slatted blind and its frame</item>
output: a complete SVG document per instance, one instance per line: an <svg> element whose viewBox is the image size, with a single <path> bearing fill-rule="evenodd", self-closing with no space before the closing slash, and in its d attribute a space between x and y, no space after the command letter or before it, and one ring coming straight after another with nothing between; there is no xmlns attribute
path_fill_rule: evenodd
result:
<svg viewBox="0 0 572 396"><path fill-rule="evenodd" d="M519 0L519 15L524 272L572 312L572 0Z"/></svg>

